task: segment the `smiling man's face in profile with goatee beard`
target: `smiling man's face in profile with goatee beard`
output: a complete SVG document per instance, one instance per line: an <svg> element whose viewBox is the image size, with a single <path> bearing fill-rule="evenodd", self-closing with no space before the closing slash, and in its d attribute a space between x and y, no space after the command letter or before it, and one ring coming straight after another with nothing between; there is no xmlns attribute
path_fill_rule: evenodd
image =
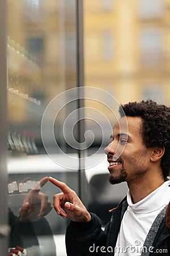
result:
<svg viewBox="0 0 170 256"><path fill-rule="evenodd" d="M128 134L125 123L128 121ZM146 148L141 137L140 117L122 117L114 125L111 143L105 148L105 154L108 156L110 172L109 181L111 184L127 181L138 182L150 167L151 148ZM121 155L120 155L121 153ZM120 155L115 159L116 155Z"/></svg>

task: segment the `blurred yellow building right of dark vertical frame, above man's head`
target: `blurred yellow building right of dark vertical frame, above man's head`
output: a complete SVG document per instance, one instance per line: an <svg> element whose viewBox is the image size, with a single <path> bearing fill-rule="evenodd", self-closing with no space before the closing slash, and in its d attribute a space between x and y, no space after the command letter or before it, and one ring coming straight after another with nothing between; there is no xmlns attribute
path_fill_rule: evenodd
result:
<svg viewBox="0 0 170 256"><path fill-rule="evenodd" d="M85 85L169 105L169 14L169 0L84 0Z"/></svg>

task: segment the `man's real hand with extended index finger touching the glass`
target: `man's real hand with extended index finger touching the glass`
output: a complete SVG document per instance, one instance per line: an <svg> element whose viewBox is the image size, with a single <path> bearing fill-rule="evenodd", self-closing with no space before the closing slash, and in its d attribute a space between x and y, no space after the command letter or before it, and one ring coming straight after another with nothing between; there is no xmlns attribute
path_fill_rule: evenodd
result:
<svg viewBox="0 0 170 256"><path fill-rule="evenodd" d="M75 191L69 188L65 183L49 177L49 181L61 189L61 193L53 196L53 205L57 214L63 218L69 217L72 221L88 222L91 215L83 205L82 201L76 195Z"/></svg>

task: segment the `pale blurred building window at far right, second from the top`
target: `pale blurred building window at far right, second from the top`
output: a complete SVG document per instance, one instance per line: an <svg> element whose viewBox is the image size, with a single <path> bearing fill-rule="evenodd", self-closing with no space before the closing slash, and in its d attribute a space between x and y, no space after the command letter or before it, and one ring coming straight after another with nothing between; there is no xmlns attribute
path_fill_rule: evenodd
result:
<svg viewBox="0 0 170 256"><path fill-rule="evenodd" d="M160 30L145 30L140 36L140 59L143 66L158 66L163 59L163 38Z"/></svg>

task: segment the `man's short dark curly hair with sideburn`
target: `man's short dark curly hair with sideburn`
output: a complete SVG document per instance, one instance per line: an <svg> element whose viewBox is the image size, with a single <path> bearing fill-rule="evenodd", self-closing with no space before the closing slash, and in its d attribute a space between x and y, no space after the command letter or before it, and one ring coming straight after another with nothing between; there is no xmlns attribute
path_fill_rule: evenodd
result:
<svg viewBox="0 0 170 256"><path fill-rule="evenodd" d="M147 148L165 148L160 166L166 180L170 175L170 108L152 100L142 100L121 105L119 112L121 117L126 115L142 118L141 134Z"/></svg>

